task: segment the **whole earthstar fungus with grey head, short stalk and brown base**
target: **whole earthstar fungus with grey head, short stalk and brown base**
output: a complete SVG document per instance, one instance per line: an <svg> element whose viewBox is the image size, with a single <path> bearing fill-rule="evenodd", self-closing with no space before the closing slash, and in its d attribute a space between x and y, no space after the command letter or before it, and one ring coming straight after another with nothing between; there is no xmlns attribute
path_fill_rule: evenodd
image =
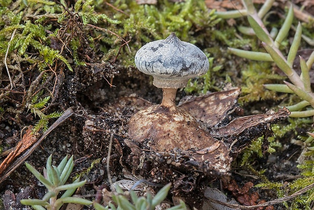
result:
<svg viewBox="0 0 314 210"><path fill-rule="evenodd" d="M178 88L190 78L206 74L209 61L196 46L172 32L166 40L144 45L135 55L139 71L153 76L163 89L163 101L136 113L129 121L129 136L154 152L185 151L194 167L206 174L225 174L231 158L224 143L205 132L188 112L176 107Z"/></svg>

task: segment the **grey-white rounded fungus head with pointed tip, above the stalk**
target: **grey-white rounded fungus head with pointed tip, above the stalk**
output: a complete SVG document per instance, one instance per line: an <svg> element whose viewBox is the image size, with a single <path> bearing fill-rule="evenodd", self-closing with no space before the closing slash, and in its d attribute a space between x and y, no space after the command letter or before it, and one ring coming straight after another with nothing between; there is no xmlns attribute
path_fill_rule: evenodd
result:
<svg viewBox="0 0 314 210"><path fill-rule="evenodd" d="M135 55L136 67L152 75L159 88L182 88L191 78L206 74L209 61L197 46L179 40L172 32L166 40L147 43Z"/></svg>

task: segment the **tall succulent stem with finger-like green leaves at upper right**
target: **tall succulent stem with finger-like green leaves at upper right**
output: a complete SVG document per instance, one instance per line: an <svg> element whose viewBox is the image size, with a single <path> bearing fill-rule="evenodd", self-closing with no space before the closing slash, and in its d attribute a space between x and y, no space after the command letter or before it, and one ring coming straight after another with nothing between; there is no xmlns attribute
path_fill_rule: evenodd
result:
<svg viewBox="0 0 314 210"><path fill-rule="evenodd" d="M291 28L293 21L293 7L290 7L285 22L276 35L276 38L273 39L272 34L266 29L261 19L269 11L272 3L273 0L266 1L257 13L252 1L244 0L243 4L246 7L245 12L238 11L241 12L241 14L247 15L249 23L253 29L251 32L256 34L257 38L262 41L262 45L267 52L251 52L234 48L229 48L229 51L235 55L251 60L275 62L282 72L289 78L291 83L284 81L284 84L265 84L264 87L278 92L294 93L302 99L301 102L288 107L291 111L290 117L314 116L314 93L311 91L309 79L309 69L314 62L314 52L311 53L307 61L300 57L301 74L298 75L293 69L293 61L295 60L297 50L301 42L301 24L299 23L296 28L288 57L285 58L283 52L280 50L280 46L284 39L288 36L289 29ZM225 13L223 15L225 15ZM219 17L224 17L223 15L218 14ZM248 31L250 28L247 28L246 30ZM305 107L309 106L311 108L303 111Z"/></svg>

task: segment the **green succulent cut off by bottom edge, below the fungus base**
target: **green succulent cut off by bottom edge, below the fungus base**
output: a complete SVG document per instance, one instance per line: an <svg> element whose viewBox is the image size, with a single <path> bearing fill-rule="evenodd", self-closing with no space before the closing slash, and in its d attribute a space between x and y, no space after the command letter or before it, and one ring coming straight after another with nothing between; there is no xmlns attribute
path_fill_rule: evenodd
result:
<svg viewBox="0 0 314 210"><path fill-rule="evenodd" d="M115 207L112 203L109 203L106 207L100 205L99 203L94 203L96 210L153 210L157 205L159 205L168 195L171 183L164 186L155 196L147 193L146 197L138 197L134 191L124 192L119 186L116 186L116 193L112 195L112 200L117 205ZM131 197L131 202L128 200L128 196ZM185 203L180 200L180 204L168 208L169 210L184 210L186 209Z"/></svg>

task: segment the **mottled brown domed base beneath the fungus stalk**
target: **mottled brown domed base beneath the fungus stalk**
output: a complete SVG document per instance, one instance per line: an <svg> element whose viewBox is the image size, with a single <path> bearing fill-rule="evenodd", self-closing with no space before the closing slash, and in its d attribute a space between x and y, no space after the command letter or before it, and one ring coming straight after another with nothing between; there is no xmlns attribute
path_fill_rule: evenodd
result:
<svg viewBox="0 0 314 210"><path fill-rule="evenodd" d="M188 151L206 174L226 174L231 159L222 142L207 134L186 111L162 105L141 110L129 121L129 136L156 152Z"/></svg>

